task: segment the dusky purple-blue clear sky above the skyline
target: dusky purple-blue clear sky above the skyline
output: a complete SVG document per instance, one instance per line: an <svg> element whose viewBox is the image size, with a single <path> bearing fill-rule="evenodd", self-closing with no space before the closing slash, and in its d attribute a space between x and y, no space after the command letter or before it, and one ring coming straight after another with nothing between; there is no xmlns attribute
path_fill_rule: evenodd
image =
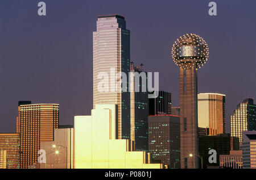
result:
<svg viewBox="0 0 256 180"><path fill-rule="evenodd" d="M243 99L256 97L256 1L205 0L0 1L0 132L15 132L18 101L59 103L60 124L92 108L92 32L97 15L125 16L131 61L159 72L160 89L179 104L179 68L171 58L177 37L207 41L209 60L198 73L199 93L226 94L226 119ZM256 101L256 100L255 100ZM229 131L229 123L227 127Z"/></svg>

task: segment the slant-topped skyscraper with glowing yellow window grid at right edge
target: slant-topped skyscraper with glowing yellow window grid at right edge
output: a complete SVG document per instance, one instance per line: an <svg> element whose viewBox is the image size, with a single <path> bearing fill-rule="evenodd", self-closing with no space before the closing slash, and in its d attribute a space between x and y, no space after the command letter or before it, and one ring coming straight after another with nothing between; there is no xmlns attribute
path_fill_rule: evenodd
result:
<svg viewBox="0 0 256 180"><path fill-rule="evenodd" d="M242 131L256 130L256 104L253 99L247 98L237 105L233 115L230 115L230 132L239 137L242 142Z"/></svg>

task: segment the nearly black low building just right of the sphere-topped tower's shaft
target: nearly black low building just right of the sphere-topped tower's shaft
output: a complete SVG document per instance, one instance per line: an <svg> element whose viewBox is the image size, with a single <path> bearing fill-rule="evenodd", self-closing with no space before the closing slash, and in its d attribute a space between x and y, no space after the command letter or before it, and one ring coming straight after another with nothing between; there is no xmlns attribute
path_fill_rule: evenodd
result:
<svg viewBox="0 0 256 180"><path fill-rule="evenodd" d="M209 150L216 150L217 162L209 162ZM232 137L230 134L219 134L216 136L201 136L199 137L199 154L203 157L203 168L207 166L219 166L220 154L229 154L230 150L239 150L239 140L237 137Z"/></svg>

